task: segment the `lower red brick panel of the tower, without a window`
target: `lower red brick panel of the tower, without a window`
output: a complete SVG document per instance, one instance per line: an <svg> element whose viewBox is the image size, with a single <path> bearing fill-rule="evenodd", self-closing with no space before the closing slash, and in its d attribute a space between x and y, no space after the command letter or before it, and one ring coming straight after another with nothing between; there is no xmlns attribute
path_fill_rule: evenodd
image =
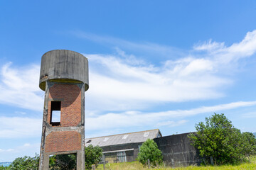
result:
<svg viewBox="0 0 256 170"><path fill-rule="evenodd" d="M46 137L46 152L63 152L81 149L81 135L76 131L51 132Z"/></svg>

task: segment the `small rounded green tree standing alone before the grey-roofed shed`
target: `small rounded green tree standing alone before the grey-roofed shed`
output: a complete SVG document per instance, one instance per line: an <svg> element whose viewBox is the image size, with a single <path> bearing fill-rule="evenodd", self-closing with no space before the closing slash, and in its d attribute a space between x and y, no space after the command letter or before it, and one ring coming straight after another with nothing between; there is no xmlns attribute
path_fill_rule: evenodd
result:
<svg viewBox="0 0 256 170"><path fill-rule="evenodd" d="M163 161L161 151L158 149L156 142L151 139L143 142L142 146L139 148L139 154L137 157L137 160L142 164L146 164L148 159L153 165L161 164Z"/></svg>

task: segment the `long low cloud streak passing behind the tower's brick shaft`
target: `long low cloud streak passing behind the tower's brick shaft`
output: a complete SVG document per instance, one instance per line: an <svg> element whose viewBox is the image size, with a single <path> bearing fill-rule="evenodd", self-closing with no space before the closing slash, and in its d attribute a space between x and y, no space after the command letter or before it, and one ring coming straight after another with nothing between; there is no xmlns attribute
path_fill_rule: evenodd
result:
<svg viewBox="0 0 256 170"><path fill-rule="evenodd" d="M85 129L87 132L93 130L113 130L118 128L138 127L142 125L155 125L174 127L184 125L189 116L201 113L214 113L240 107L255 106L256 101L240 101L217 106L204 106L190 110L176 110L163 112L140 112L126 111L123 113L106 113L104 115L86 114ZM180 119L181 120L177 120ZM1 117L0 118L0 138L24 138L41 135L42 120L38 118L23 117ZM29 147L28 143L23 147Z"/></svg>

